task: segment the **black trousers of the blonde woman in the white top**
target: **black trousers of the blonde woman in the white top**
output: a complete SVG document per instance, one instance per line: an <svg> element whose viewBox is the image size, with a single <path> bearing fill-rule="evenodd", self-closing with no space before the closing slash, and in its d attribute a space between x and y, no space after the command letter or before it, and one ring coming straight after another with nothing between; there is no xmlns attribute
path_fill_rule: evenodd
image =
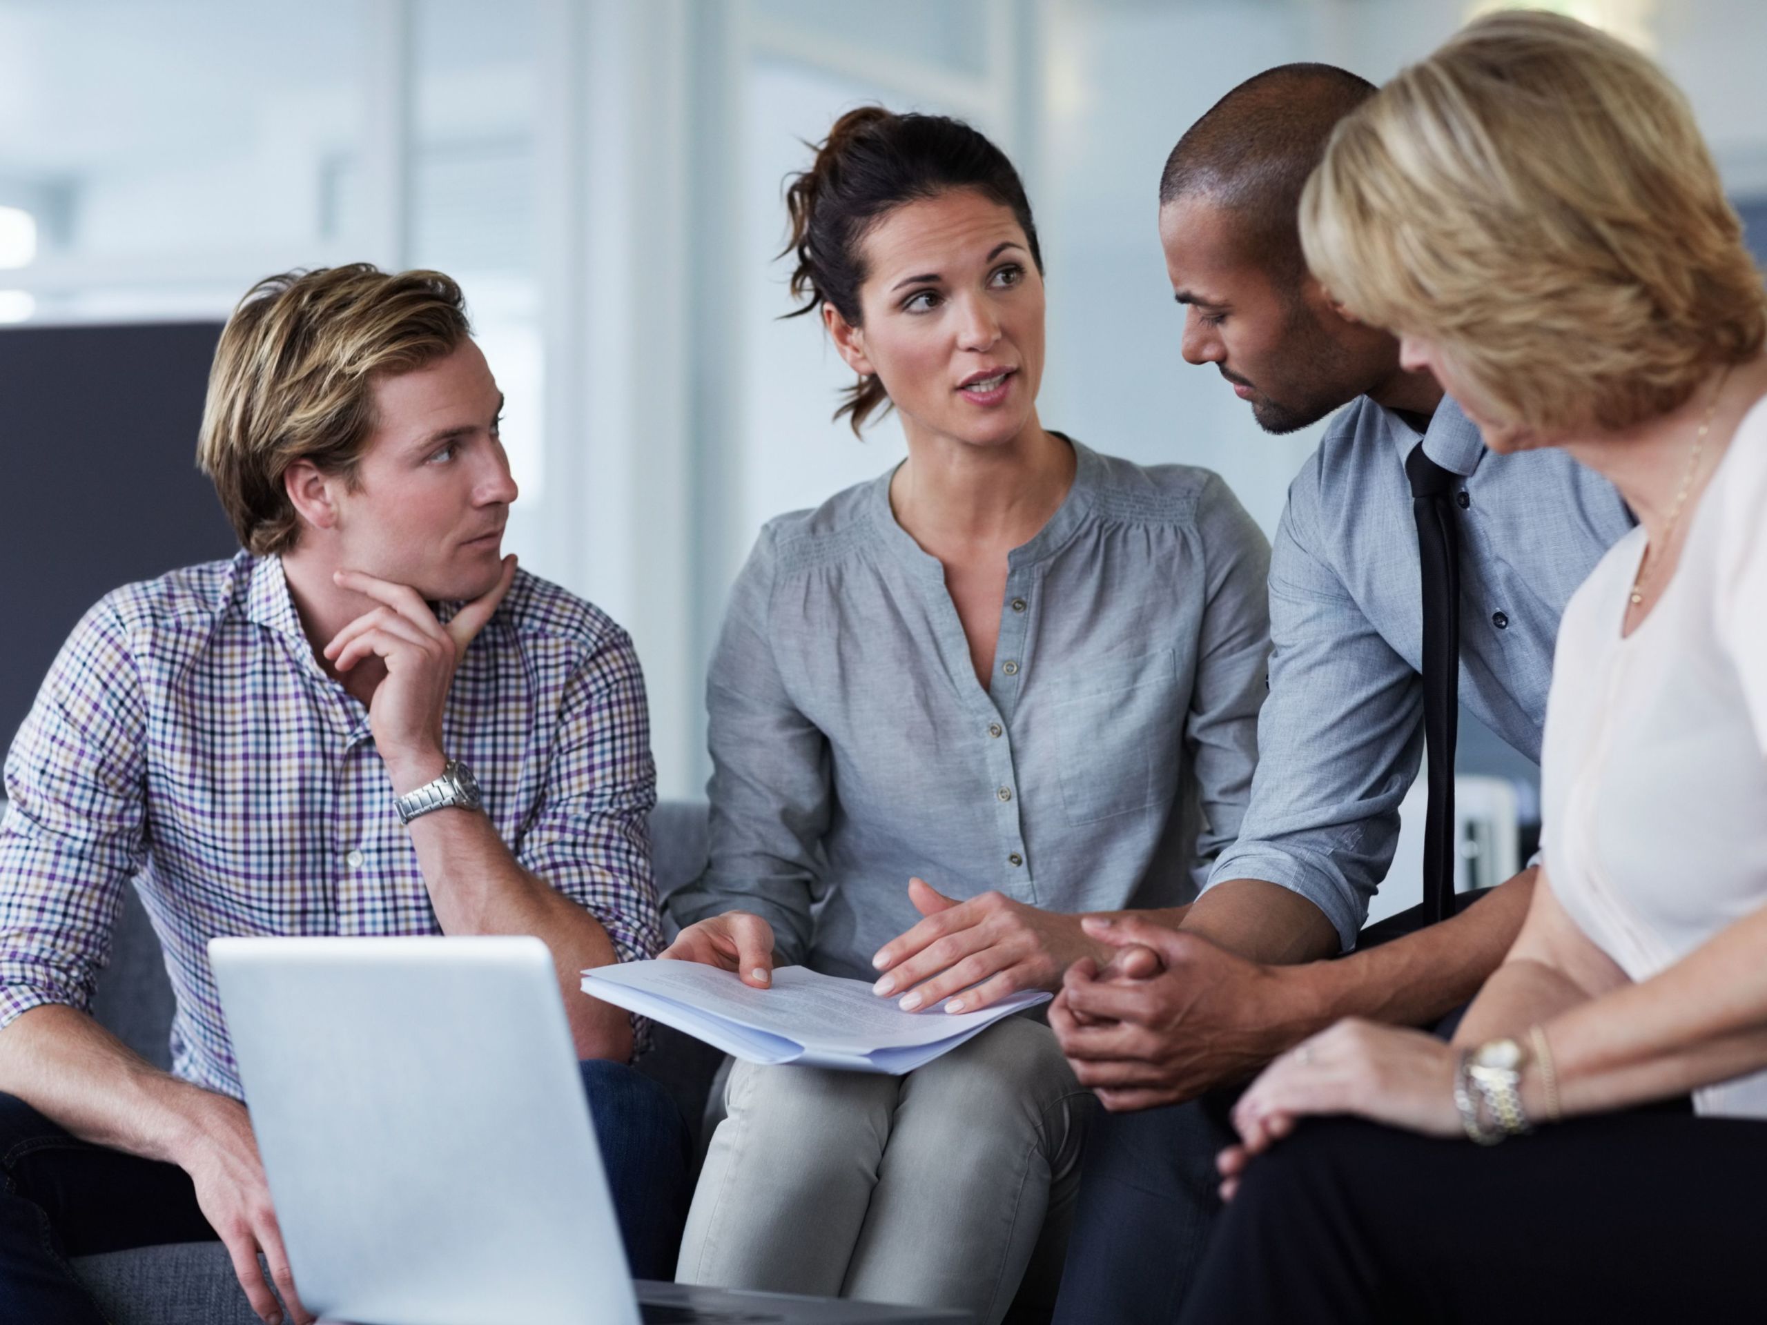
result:
<svg viewBox="0 0 1767 1325"><path fill-rule="evenodd" d="M1638 1111L1497 1147L1308 1120L1226 1208L1184 1325L1767 1320L1767 1122Z"/></svg>

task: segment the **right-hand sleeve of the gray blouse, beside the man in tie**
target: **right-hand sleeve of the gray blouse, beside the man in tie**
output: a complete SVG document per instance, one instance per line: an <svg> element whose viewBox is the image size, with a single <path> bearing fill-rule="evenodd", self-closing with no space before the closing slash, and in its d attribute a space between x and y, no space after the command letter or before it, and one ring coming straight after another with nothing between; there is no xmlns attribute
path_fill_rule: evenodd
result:
<svg viewBox="0 0 1767 1325"><path fill-rule="evenodd" d="M1205 565L1205 608L1196 638L1196 682L1186 721L1186 747L1196 776L1203 822L1196 834L1196 882L1237 841L1258 763L1258 710L1267 693L1270 654L1270 544L1210 477L1196 525Z"/></svg>

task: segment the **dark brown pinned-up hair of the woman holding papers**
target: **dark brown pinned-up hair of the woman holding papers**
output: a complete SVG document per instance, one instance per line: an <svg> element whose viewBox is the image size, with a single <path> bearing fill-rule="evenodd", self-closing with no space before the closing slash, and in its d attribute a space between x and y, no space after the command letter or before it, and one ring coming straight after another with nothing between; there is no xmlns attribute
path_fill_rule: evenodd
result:
<svg viewBox="0 0 1767 1325"><path fill-rule="evenodd" d="M792 295L804 304L786 316L813 313L823 302L853 327L861 325L859 286L866 279L861 240L887 212L903 203L974 189L1011 208L1025 231L1030 260L1043 270L1037 226L1025 186L1005 152L963 120L947 115L896 115L882 106L846 111L809 170L792 177L785 205L792 217L786 253L797 254ZM889 392L875 376L846 389L834 412L852 417L857 433Z"/></svg>

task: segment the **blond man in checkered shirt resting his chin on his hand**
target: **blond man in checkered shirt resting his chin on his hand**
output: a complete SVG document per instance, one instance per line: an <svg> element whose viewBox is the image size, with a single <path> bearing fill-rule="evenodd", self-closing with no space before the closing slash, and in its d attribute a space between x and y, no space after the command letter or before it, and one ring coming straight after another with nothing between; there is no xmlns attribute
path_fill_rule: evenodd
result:
<svg viewBox="0 0 1767 1325"><path fill-rule="evenodd" d="M260 1316L262 1251L307 1318L216 935L542 938L633 1268L673 1265L680 1117L627 1065L631 1019L576 991L659 942L643 678L504 556L500 413L440 272L270 277L223 332L198 461L242 551L94 606L5 765L0 1318L97 1325L67 1256L216 1237ZM177 993L170 1074L88 1014L127 887Z"/></svg>

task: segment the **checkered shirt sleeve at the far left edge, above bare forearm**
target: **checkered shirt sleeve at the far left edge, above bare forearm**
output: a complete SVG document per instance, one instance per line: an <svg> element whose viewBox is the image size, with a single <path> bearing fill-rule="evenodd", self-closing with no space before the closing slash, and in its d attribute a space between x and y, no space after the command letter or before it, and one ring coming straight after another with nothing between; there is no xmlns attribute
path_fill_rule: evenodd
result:
<svg viewBox="0 0 1767 1325"><path fill-rule="evenodd" d="M90 1011L145 852L147 708L127 629L85 615L5 761L0 1026L44 1003Z"/></svg>

